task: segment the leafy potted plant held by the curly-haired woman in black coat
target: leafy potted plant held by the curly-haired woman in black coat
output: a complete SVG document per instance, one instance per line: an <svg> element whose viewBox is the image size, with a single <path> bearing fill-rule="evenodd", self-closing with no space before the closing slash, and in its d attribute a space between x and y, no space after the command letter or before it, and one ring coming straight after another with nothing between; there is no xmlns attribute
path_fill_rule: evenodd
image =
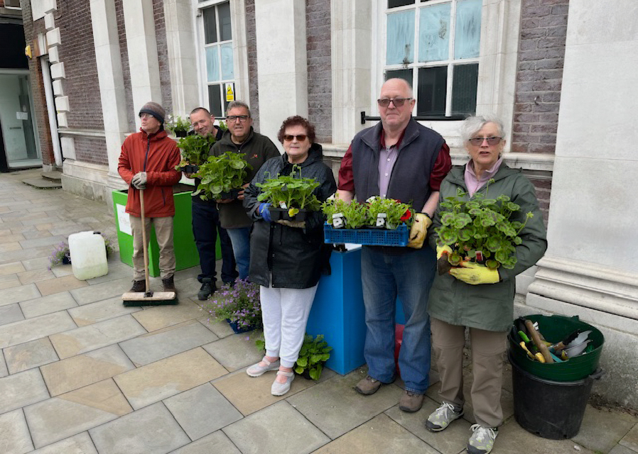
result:
<svg viewBox="0 0 638 454"><path fill-rule="evenodd" d="M291 175L278 175L257 183L261 188L259 201L269 201L273 221L303 221L306 211L319 211L321 204L313 191L319 186L314 178L301 177L301 167L293 166Z"/></svg>

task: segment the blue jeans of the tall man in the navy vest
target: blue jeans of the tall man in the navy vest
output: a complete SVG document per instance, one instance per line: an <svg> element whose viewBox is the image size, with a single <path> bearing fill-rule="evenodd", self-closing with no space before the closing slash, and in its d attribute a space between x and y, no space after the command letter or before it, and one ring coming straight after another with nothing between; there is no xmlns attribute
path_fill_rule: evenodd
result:
<svg viewBox="0 0 638 454"><path fill-rule="evenodd" d="M364 356L368 374L379 382L394 380L394 318L396 297L406 316L399 353L406 391L423 394L430 375L428 295L436 270L436 255L428 245L411 253L390 255L363 246L361 279L367 333Z"/></svg>

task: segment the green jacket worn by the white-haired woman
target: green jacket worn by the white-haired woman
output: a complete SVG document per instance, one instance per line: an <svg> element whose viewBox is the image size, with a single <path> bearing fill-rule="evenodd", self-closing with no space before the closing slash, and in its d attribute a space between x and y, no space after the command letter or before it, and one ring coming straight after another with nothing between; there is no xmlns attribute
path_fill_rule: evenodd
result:
<svg viewBox="0 0 638 454"><path fill-rule="evenodd" d="M457 188L467 192L464 172L465 166L450 170L441 183L439 202L445 197L456 196ZM486 186L477 192L485 193ZM465 284L451 275L437 273L430 292L428 308L428 312L435 319L487 331L507 331L512 326L516 276L543 257L547 249L547 235L534 186L520 170L501 165L494 175L494 183L490 184L487 196L496 199L501 194L509 196L515 204L521 206L520 211L512 214L512 221L524 222L529 211L534 213L534 217L527 221L520 233L522 243L516 247L517 264L512 270L499 267L501 281L496 284ZM430 245L434 250L437 238L434 229L441 225L439 211L440 205L436 209L429 232Z"/></svg>

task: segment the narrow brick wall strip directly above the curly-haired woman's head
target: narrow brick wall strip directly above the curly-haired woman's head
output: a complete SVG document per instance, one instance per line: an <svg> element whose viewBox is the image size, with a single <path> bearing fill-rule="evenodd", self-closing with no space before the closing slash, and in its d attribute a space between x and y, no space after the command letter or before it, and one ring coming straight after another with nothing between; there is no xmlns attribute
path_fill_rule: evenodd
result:
<svg viewBox="0 0 638 454"><path fill-rule="evenodd" d="M323 143L332 143L330 48L330 0L306 0L308 120L315 125L317 141Z"/></svg>

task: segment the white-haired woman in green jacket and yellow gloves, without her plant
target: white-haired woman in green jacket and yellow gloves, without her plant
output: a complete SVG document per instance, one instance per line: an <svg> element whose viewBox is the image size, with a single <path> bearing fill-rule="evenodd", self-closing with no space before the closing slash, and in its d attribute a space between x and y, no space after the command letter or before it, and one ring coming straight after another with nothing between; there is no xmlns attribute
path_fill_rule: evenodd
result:
<svg viewBox="0 0 638 454"><path fill-rule="evenodd" d="M449 423L463 416L463 347L465 328L470 330L472 345L472 406L476 423L467 444L470 454L490 453L498 427L503 422L501 388L505 338L512 326L516 275L534 265L547 248L546 231L534 186L520 170L510 169L503 162L505 131L502 121L493 116L474 116L463 122L463 144L470 161L454 167L440 187L440 201L456 196L457 190L467 193L465 200L477 193L489 198L500 195L520 206L510 221L524 223L528 212L534 216L519 233L516 246L517 263L511 270L461 262L448 273L434 279L428 312L432 323L432 345L440 375L439 396L442 404L426 421L432 432L443 431ZM440 201L433 217L430 244L437 258L450 248L437 247L434 228L441 226Z"/></svg>

